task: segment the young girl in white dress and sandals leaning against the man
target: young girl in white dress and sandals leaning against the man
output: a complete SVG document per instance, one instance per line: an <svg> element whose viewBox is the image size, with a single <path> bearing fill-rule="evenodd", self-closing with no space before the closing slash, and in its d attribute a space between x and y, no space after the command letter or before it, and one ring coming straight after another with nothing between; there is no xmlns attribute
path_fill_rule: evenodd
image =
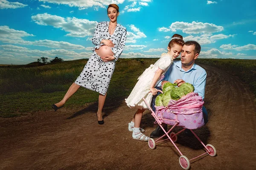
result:
<svg viewBox="0 0 256 170"><path fill-rule="evenodd" d="M159 91L154 87L164 78L164 74L172 64L173 59L180 55L183 45L183 37L179 34L174 34L168 44L168 52L163 53L154 65L150 65L150 67L140 75L131 94L125 99L129 108L138 109L134 114L132 121L128 124L128 130L133 131L133 139L148 141L149 137L142 133L145 132L145 130L140 128L142 113L146 109L149 109L145 104L143 97L149 104L151 103L152 96L156 95L157 91Z"/></svg>

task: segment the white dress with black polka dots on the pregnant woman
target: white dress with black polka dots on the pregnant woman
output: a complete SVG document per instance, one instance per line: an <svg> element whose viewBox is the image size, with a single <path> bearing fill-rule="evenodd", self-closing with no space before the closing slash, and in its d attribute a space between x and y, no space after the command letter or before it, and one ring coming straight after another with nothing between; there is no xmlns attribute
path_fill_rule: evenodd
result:
<svg viewBox="0 0 256 170"><path fill-rule="evenodd" d="M114 33L110 35L108 32L108 24L109 22L101 22L96 27L92 39L93 44L96 45L93 48L93 54L75 81L77 85L99 92L102 95L105 95L108 91L108 85L116 66L116 60L120 57L126 40L125 27L119 24ZM114 53L113 57L115 57L115 59L111 62L104 62L95 52L95 49L98 49L104 45L100 44L100 42L104 39L112 40L115 45L115 47L112 48Z"/></svg>

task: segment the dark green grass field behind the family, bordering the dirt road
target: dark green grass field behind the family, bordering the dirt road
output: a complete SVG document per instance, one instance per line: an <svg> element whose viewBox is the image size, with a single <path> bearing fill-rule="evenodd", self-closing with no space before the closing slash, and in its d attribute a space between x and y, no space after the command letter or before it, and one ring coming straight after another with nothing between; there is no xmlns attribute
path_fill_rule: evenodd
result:
<svg viewBox="0 0 256 170"><path fill-rule="evenodd" d="M107 99L114 102L128 96L137 77L156 61L157 59L119 59ZM63 98L86 62L87 59L80 59L37 67L0 67L0 116L13 117L49 110L50 105ZM213 65L240 77L256 95L256 60L197 59L197 63ZM65 107L81 107L97 100L98 93L80 88Z"/></svg>

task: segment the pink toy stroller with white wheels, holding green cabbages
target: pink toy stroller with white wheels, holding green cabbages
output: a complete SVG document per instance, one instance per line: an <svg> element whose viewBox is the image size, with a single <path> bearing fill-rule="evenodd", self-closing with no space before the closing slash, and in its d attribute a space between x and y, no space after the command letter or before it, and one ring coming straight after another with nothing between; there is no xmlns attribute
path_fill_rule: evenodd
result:
<svg viewBox="0 0 256 170"><path fill-rule="evenodd" d="M148 108L150 108L148 102L145 101L145 103L148 106ZM208 155L210 156L215 156L216 155L215 147L212 146L211 144L204 145L204 143L198 138L198 136L192 130L192 129L200 128L204 125L204 117L202 112L203 104L204 104L204 101L201 96L198 96L197 93L189 93L177 101L170 100L167 107L155 106L156 113L154 113L154 111L150 108L152 112L151 115L156 120L155 123L157 122L157 124L163 129L165 134L163 136L160 136L160 138L158 138L156 141L150 138L148 140L148 146L151 149L154 149L156 147L157 142L162 142L170 139L172 144L176 147L176 149L181 155L179 158L179 163L180 163L180 166L185 170L189 169L190 161L193 159L196 159L206 153L208 153ZM166 132L162 126L162 123L173 125L173 126L168 132ZM178 133L174 133L174 132L170 133L175 126L180 126L184 128L180 130ZM180 152L176 144L174 143L177 141L177 135L186 129L191 130L191 132L195 135L195 137L199 140L199 142L201 142L201 144L206 149L205 153L193 159L188 159L186 156L184 156ZM168 139L164 139L160 141L160 139L162 139L164 136L167 136Z"/></svg>

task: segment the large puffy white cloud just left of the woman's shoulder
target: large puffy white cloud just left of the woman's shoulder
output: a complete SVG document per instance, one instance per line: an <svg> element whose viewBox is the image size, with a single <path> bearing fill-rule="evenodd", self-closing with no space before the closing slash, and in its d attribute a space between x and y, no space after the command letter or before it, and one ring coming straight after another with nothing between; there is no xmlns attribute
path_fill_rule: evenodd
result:
<svg viewBox="0 0 256 170"><path fill-rule="evenodd" d="M76 17L63 18L47 13L33 15L31 18L38 25L61 28L64 31L69 32L66 36L70 37L91 36L98 24L96 21L78 19Z"/></svg>

